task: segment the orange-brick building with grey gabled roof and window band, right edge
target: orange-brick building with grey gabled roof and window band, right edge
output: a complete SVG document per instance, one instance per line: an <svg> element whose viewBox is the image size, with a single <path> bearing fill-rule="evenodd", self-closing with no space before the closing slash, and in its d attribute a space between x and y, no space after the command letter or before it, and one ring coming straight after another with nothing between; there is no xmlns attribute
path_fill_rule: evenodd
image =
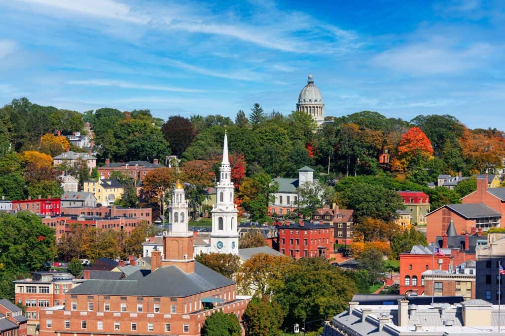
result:
<svg viewBox="0 0 505 336"><path fill-rule="evenodd" d="M447 204L430 212L427 216L426 240L434 242L442 236L453 221L456 232L487 231L499 227L501 214L483 203Z"/></svg>

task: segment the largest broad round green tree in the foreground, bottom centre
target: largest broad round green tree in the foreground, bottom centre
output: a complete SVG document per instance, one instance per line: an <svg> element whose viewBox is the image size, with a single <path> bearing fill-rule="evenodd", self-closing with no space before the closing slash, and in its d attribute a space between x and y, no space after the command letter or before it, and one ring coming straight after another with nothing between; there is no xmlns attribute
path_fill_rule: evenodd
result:
<svg viewBox="0 0 505 336"><path fill-rule="evenodd" d="M304 320L332 318L347 307L356 292L355 283L326 260L300 258L283 284L274 289L273 299L284 311L284 325L291 326ZM320 324L314 325L318 328Z"/></svg>

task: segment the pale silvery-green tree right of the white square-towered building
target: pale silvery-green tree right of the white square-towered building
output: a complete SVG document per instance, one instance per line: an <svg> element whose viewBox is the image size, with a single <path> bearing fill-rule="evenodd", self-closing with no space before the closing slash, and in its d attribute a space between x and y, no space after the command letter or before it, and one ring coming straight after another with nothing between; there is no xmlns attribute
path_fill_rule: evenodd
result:
<svg viewBox="0 0 505 336"><path fill-rule="evenodd" d="M296 191L298 193L298 212L304 217L311 217L316 209L322 208L327 203L333 203L335 200L334 190L318 180L301 183Z"/></svg>

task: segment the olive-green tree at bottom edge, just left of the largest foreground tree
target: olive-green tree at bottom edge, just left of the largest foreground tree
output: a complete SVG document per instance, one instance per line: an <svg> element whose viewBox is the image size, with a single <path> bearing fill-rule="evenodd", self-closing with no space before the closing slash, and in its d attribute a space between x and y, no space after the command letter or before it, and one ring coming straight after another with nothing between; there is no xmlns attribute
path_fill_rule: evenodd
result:
<svg viewBox="0 0 505 336"><path fill-rule="evenodd" d="M242 320L246 336L278 336L284 313L281 307L267 295L253 297Z"/></svg>

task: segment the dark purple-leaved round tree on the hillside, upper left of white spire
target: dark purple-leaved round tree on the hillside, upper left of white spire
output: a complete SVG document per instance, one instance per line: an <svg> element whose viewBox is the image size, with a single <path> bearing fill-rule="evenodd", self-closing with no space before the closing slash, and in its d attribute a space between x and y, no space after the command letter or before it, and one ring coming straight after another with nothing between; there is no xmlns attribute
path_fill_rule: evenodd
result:
<svg viewBox="0 0 505 336"><path fill-rule="evenodd" d="M172 153L181 156L196 137L196 128L188 118L173 115L161 127Z"/></svg>

